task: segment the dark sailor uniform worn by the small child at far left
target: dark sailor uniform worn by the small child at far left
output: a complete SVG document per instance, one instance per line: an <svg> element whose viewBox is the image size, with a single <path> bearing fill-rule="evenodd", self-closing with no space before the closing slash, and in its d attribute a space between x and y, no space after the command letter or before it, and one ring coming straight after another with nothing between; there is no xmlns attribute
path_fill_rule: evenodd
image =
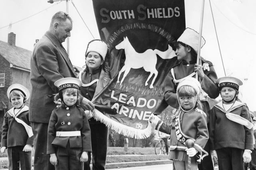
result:
<svg viewBox="0 0 256 170"><path fill-rule="evenodd" d="M28 121L28 106L24 106L20 111L17 118L31 126ZM21 170L30 170L32 168L32 152L22 150L25 145L33 145L34 136L28 137L25 127L8 112L15 115L14 107L4 114L1 147L7 148L10 169L18 170L17 167L20 167Z"/></svg>

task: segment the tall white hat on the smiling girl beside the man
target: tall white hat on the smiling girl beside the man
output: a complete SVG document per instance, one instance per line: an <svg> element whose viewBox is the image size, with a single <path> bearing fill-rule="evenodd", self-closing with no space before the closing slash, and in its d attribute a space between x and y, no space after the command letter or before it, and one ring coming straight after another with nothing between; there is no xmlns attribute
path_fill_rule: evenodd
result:
<svg viewBox="0 0 256 170"><path fill-rule="evenodd" d="M104 41L100 39L94 39L88 43L88 46L85 52L85 57L87 57L88 53L90 53L91 51L99 53L103 58L103 60L105 60L105 57L108 51L108 46L106 45L106 43L104 43Z"/></svg>

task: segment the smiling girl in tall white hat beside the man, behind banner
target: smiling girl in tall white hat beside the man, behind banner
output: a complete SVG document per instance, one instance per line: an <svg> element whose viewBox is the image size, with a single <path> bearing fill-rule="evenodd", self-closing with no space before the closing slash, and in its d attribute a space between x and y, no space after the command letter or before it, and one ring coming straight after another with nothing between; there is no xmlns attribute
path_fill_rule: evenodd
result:
<svg viewBox="0 0 256 170"><path fill-rule="evenodd" d="M88 43L85 59L86 68L79 73L78 78L82 81L81 94L83 97L92 100L101 70L104 69L104 60L108 51L106 43L94 39ZM88 113L86 111L86 113ZM92 137L92 169L105 170L108 127L96 121L88 114L91 137ZM84 170L90 170L91 153L88 153L88 161L84 163Z"/></svg>

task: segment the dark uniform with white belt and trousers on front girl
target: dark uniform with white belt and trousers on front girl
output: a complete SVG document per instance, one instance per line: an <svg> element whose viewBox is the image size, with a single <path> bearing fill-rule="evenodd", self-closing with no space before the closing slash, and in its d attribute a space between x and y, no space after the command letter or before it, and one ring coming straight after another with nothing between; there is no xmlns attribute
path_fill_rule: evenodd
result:
<svg viewBox="0 0 256 170"><path fill-rule="evenodd" d="M65 135L62 135L63 132ZM81 154L92 150L90 135L90 126L82 107L65 107L62 104L55 108L50 117L47 140L47 154L56 153L58 159L55 168L82 170Z"/></svg>

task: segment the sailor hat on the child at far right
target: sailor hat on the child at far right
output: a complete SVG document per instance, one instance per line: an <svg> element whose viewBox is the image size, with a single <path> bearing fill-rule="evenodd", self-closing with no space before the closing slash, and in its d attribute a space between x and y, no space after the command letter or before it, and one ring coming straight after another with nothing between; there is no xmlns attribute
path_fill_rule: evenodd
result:
<svg viewBox="0 0 256 170"><path fill-rule="evenodd" d="M235 77L221 77L216 80L216 83L219 84L220 90L223 87L232 87L236 90L239 90L239 86L243 84L241 80Z"/></svg>

